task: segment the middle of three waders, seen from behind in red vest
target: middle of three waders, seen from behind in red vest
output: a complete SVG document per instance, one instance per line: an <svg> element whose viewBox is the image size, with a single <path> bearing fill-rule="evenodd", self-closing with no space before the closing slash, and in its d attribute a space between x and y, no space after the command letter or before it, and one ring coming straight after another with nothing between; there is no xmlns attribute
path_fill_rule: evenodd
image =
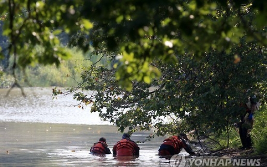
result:
<svg viewBox="0 0 267 167"><path fill-rule="evenodd" d="M130 139L130 135L124 133L122 139L113 146L112 152L117 156L138 156L139 150L139 146Z"/></svg>

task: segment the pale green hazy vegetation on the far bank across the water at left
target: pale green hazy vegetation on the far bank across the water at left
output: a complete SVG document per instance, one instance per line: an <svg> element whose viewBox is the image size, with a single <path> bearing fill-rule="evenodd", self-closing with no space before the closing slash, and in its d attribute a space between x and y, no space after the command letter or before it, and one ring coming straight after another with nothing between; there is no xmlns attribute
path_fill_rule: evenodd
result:
<svg viewBox="0 0 267 167"><path fill-rule="evenodd" d="M15 70L15 76L21 86L26 87L69 87L76 86L81 82L80 73L84 70L89 70L92 63L97 62L98 65L106 65L108 61L101 56L92 55L91 52L83 53L77 48L69 48L75 57L62 61L59 67L56 65L40 65L27 67L25 71L20 69ZM10 64L12 57L10 58ZM101 59L99 61L99 59ZM3 65L3 64L2 64ZM15 78L11 73L11 67L3 71L0 70L0 88L9 88L14 82Z"/></svg>

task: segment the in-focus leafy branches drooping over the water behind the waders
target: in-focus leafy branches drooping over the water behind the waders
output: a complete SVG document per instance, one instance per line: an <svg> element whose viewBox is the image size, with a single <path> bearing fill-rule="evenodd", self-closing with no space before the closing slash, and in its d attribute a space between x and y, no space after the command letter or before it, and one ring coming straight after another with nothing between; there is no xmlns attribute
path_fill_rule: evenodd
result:
<svg viewBox="0 0 267 167"><path fill-rule="evenodd" d="M94 92L79 92L74 98L92 100L91 111L120 131L155 129L158 136L193 130L199 136L220 136L239 121L248 89L266 100L266 48L254 42L243 38L230 53L212 49L201 60L190 54L177 59L169 64L153 61L162 77L150 84L133 82L132 91L119 86L116 70L93 65L83 73L81 87Z"/></svg>

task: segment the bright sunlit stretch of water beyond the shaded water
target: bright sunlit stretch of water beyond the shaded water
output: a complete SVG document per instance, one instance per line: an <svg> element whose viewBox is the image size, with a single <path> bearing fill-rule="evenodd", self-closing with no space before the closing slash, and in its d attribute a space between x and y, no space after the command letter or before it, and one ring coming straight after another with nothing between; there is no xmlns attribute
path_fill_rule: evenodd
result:
<svg viewBox="0 0 267 167"><path fill-rule="evenodd" d="M102 121L90 106L81 109L72 94L52 98L52 88L0 89L0 121L50 122L68 124L111 124Z"/></svg>

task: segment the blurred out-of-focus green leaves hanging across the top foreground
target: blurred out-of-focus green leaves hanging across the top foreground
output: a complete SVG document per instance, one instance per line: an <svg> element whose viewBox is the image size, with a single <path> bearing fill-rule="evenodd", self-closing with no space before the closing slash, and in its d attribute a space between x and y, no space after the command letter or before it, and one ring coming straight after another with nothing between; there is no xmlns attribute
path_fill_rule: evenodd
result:
<svg viewBox="0 0 267 167"><path fill-rule="evenodd" d="M15 55L14 67L59 65L71 56L60 45L63 31L84 51L93 46L96 53L115 53L117 80L131 90L132 80L150 83L160 76L150 65L154 59L229 51L243 35L266 45L264 6L259 0L4 0L3 35L10 43L2 50Z"/></svg>

